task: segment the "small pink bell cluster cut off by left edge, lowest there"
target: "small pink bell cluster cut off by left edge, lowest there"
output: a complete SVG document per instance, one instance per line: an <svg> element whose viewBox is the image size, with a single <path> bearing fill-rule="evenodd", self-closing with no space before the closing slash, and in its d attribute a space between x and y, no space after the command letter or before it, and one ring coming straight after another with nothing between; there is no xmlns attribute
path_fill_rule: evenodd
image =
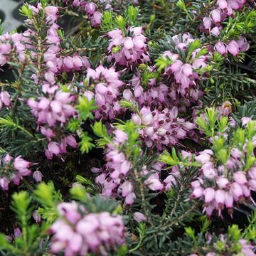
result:
<svg viewBox="0 0 256 256"><path fill-rule="evenodd" d="M4 191L9 189L9 183L18 185L23 176L31 174L29 167L31 163L23 160L21 156L13 159L9 154L0 161L0 186Z"/></svg>

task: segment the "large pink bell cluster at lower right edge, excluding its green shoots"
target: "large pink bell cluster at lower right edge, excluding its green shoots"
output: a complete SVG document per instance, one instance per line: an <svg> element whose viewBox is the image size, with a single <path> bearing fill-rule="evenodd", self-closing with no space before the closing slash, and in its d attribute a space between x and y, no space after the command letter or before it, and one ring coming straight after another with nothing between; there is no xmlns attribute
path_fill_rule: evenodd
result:
<svg viewBox="0 0 256 256"><path fill-rule="evenodd" d="M245 166L243 152L233 148L225 165L215 166L214 153L210 149L201 151L195 157L202 164L201 175L191 183L191 198L203 198L204 211L211 215L217 210L221 215L223 208L233 213L235 202L252 201L250 191L256 191L256 166L242 171Z"/></svg>

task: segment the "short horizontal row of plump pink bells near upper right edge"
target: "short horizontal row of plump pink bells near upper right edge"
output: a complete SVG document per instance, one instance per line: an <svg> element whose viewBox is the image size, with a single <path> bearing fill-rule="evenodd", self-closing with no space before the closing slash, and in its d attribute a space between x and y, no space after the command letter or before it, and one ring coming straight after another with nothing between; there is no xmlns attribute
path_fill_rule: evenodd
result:
<svg viewBox="0 0 256 256"><path fill-rule="evenodd" d="M249 43L247 43L246 38L240 36L238 40L232 40L229 43L223 43L219 41L215 44L215 50L218 51L221 55L225 56L228 53L233 56L237 56L240 52L245 52L250 47Z"/></svg>

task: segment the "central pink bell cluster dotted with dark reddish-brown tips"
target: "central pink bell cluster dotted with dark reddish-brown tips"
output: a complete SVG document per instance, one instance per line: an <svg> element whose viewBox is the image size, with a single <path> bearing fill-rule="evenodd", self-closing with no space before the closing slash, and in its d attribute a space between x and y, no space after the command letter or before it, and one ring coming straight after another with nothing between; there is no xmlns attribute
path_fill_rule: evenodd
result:
<svg viewBox="0 0 256 256"><path fill-rule="evenodd" d="M178 118L177 107L154 111L151 111L150 107L142 107L139 114L132 114L132 121L142 125L140 134L146 146L156 146L159 150L162 150L163 146L176 145L180 139L186 138L188 130L195 127L191 122Z"/></svg>

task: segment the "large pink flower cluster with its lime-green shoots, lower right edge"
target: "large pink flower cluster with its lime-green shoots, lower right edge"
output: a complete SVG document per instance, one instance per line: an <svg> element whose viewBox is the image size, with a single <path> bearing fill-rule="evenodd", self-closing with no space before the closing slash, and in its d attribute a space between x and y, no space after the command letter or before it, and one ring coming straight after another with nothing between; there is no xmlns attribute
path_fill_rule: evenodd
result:
<svg viewBox="0 0 256 256"><path fill-rule="evenodd" d="M201 163L201 175L191 183L191 198L203 198L204 211L207 215L211 215L213 210L217 210L221 215L224 208L228 208L228 212L232 214L234 203L253 202L251 191L256 191L256 165L253 153L256 137L252 137L250 141L240 140L237 136L246 134L242 131L247 129L255 133L255 124L247 119L244 125L249 128L238 129L238 133L234 135L235 142L230 144L230 148L216 150L218 145L225 142L227 135L215 136L210 138L215 151L206 149L195 157L196 161ZM215 164L216 160L218 164Z"/></svg>

